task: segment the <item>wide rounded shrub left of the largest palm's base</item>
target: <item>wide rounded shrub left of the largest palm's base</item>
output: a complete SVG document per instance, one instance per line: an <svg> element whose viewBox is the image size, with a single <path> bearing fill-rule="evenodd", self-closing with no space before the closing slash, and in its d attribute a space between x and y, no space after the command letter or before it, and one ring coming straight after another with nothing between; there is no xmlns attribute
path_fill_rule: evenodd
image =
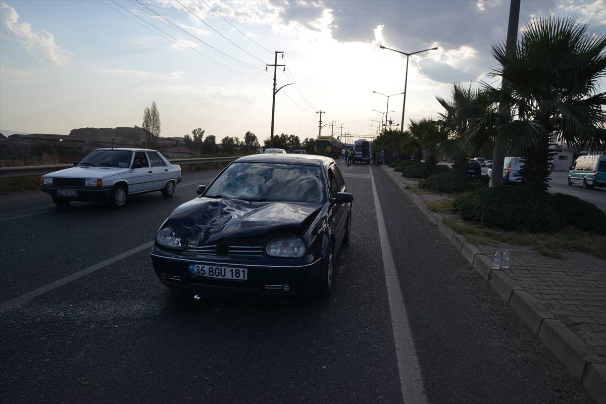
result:
<svg viewBox="0 0 606 404"><path fill-rule="evenodd" d="M481 188L454 198L453 207L463 219L490 228L554 233L560 228L558 211L550 195L526 187Z"/></svg>

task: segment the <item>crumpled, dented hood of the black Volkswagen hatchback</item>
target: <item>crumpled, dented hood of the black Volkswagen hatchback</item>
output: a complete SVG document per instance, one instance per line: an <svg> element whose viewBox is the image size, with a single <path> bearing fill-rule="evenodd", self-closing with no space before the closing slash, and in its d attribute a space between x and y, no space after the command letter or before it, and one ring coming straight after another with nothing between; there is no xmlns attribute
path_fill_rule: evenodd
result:
<svg viewBox="0 0 606 404"><path fill-rule="evenodd" d="M204 245L223 238L298 228L305 219L311 222L323 206L307 202L246 202L201 197L176 208L168 217L167 225L188 245Z"/></svg>

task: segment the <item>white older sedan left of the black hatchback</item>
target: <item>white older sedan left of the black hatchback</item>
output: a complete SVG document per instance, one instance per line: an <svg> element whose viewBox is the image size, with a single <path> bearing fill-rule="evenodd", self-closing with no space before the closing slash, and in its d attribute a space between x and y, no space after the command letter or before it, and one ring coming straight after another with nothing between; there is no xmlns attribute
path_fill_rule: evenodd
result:
<svg viewBox="0 0 606 404"><path fill-rule="evenodd" d="M171 197L179 182L181 167L170 164L156 150L99 148L75 167L43 176L40 189L60 207L81 200L108 201L122 208L132 194L161 191Z"/></svg>

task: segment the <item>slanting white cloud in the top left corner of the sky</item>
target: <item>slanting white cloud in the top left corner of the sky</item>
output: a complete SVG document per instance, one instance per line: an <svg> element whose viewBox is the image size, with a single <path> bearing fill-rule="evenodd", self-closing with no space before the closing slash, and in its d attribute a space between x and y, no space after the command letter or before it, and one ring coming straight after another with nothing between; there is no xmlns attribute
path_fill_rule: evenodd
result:
<svg viewBox="0 0 606 404"><path fill-rule="evenodd" d="M2 15L0 31L3 35L20 42L36 57L42 56L59 66L67 64L69 56L73 53L55 44L55 37L52 33L45 30L34 32L32 25L27 22L18 22L19 15L15 8L5 3L0 4L0 10L2 11L0 13Z"/></svg>

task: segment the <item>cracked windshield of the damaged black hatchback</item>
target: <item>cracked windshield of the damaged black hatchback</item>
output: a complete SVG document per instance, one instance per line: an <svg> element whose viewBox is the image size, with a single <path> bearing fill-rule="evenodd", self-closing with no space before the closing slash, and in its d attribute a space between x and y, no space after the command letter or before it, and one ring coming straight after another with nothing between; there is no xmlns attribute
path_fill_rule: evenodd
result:
<svg viewBox="0 0 606 404"><path fill-rule="evenodd" d="M320 167L295 164L234 163L204 196L258 202L325 201Z"/></svg>

